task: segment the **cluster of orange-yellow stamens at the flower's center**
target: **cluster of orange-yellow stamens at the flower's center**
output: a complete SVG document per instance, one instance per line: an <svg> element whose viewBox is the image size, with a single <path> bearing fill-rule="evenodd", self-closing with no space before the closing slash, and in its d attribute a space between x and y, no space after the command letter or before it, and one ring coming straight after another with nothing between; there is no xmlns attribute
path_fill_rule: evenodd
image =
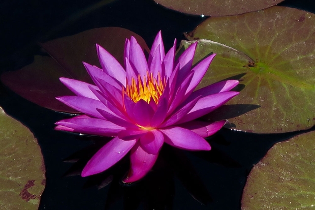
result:
<svg viewBox="0 0 315 210"><path fill-rule="evenodd" d="M140 99L143 99L147 103L150 103L151 100L154 100L158 104L158 100L161 97L166 86L165 77L161 79L160 73L158 72L158 77L154 78L152 72L143 77L141 80L140 75L138 75L138 80L131 78L131 84L128 84L126 81L126 90L123 87L123 97L126 93L131 100L138 102Z"/></svg>

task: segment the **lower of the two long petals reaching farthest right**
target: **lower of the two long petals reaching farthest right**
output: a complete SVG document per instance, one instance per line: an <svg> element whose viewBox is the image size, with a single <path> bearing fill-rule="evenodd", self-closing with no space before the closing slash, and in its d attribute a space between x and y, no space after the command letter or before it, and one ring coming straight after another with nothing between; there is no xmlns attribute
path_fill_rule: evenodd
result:
<svg viewBox="0 0 315 210"><path fill-rule="evenodd" d="M204 116L213 110L219 108L225 104L228 100L238 95L239 92L229 91L220 92L217 94L208 95L206 97L200 98L196 105L190 110L190 112L180 120L180 123L194 120Z"/></svg>

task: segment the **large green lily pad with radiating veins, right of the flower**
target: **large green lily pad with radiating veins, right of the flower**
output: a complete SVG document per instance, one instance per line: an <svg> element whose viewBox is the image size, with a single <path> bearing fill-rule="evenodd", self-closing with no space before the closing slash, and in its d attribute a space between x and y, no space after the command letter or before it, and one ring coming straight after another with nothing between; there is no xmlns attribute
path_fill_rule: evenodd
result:
<svg viewBox="0 0 315 210"><path fill-rule="evenodd" d="M236 129L283 133L315 124L314 21L315 14L274 6L243 15L211 17L186 34L189 40L220 42L251 58L236 63L238 68L233 71L222 61L221 67L212 67L203 79L203 83L212 84L244 75L240 79L244 89L228 104L260 108L232 116L229 121ZM220 118L219 111L212 117Z"/></svg>

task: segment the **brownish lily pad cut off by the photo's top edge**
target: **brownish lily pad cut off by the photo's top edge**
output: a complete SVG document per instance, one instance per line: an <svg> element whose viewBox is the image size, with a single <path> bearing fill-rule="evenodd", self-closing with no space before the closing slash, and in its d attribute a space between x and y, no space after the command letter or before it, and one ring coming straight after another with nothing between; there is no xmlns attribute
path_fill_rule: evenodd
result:
<svg viewBox="0 0 315 210"><path fill-rule="evenodd" d="M157 3L192 15L238 15L274 6L283 0L155 0Z"/></svg>

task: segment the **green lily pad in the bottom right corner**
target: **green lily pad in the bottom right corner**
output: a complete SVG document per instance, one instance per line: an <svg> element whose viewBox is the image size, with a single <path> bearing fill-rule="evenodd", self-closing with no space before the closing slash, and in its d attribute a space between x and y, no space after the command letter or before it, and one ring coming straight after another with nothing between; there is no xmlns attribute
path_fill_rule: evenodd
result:
<svg viewBox="0 0 315 210"><path fill-rule="evenodd" d="M242 210L315 208L315 131L274 145L248 177Z"/></svg>

